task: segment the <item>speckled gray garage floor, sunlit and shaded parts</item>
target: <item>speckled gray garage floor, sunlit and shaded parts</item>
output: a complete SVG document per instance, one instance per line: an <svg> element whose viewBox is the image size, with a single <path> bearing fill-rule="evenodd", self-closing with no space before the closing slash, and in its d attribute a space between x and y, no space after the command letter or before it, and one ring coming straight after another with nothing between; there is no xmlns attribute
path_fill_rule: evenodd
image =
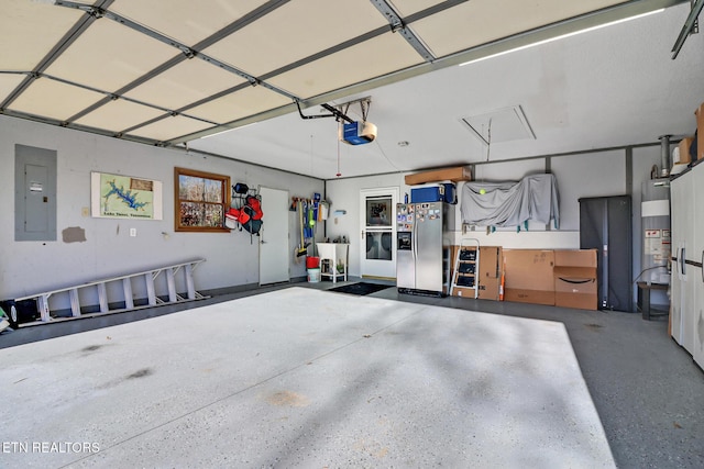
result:
<svg viewBox="0 0 704 469"><path fill-rule="evenodd" d="M2 334L1 466L704 467L704 373L664 321L394 288L196 315L287 287ZM37 440L100 453L7 445Z"/></svg>

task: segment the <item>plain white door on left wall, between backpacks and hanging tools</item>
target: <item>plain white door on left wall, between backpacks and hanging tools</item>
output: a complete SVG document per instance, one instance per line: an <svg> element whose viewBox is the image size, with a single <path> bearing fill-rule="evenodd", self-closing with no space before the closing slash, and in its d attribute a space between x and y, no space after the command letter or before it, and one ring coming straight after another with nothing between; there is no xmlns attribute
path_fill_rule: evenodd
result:
<svg viewBox="0 0 704 469"><path fill-rule="evenodd" d="M289 281L288 191L260 187L262 231L260 232L260 284Z"/></svg>

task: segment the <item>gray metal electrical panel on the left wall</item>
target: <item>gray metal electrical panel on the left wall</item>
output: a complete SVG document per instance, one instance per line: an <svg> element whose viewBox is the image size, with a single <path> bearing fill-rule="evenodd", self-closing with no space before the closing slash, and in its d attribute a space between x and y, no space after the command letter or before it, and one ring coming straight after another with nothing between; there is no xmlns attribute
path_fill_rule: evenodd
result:
<svg viewBox="0 0 704 469"><path fill-rule="evenodd" d="M14 146L14 241L56 241L56 150Z"/></svg>

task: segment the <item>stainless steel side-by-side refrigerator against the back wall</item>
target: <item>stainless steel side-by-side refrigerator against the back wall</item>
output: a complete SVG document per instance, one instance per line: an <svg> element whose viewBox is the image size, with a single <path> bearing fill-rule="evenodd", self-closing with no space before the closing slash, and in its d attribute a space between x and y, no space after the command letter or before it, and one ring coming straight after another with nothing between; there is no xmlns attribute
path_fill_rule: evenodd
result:
<svg viewBox="0 0 704 469"><path fill-rule="evenodd" d="M454 205L396 205L396 287L400 293L444 295L451 278Z"/></svg>

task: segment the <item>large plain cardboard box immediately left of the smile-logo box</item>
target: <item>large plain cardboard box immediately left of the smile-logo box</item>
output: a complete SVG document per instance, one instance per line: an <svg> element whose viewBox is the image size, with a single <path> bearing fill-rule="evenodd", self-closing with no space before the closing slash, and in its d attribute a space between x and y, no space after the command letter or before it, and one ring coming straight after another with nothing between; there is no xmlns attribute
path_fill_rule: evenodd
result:
<svg viewBox="0 0 704 469"><path fill-rule="evenodd" d="M554 252L506 249L506 301L554 305Z"/></svg>

